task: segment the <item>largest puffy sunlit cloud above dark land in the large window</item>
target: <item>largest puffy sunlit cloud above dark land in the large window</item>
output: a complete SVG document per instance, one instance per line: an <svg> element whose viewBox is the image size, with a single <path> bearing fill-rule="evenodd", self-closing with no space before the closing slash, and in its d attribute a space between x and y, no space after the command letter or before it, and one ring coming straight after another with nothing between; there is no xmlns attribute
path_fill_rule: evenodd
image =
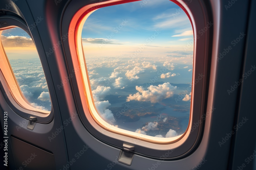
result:
<svg viewBox="0 0 256 170"><path fill-rule="evenodd" d="M126 101L137 100L157 103L163 99L172 97L176 88L177 86L174 87L170 83L159 84L158 86L151 85L147 87L147 90L144 90L142 86L136 86L138 92L134 95L130 94Z"/></svg>

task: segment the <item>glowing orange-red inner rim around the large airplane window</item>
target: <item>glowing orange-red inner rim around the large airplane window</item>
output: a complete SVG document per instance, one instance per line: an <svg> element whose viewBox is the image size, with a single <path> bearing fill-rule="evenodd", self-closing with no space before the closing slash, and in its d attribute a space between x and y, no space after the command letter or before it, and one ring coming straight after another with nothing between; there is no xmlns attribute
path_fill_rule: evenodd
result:
<svg viewBox="0 0 256 170"><path fill-rule="evenodd" d="M100 115L97 113L97 111L95 109L95 105L94 105L94 101L93 101L93 97L92 97L92 91L91 91L90 82L89 82L88 71L87 71L87 67L86 67L86 61L85 61L85 57L84 57L82 40L81 40L83 24L86 21L86 19L88 18L88 16L92 12L97 10L98 8L111 6L111 5L117 5L117 4L123 4L123 3L129 3L129 2L134 2L134 1L112 0L112 1L101 2L101 3L90 4L90 5L84 6L79 11L77 11L77 13L73 16L73 18L70 22L69 32L71 32L71 34L70 34L70 38L68 39L68 41L69 41L69 47L70 47L70 53L71 53L71 57L72 57L72 61L73 61L73 66L74 66L74 68L77 68L77 67L80 68L79 69L80 74L75 74L75 76L77 79L78 89L80 89L79 93L81 96L82 95L85 96L85 101L83 101L83 99L82 99L82 102L84 103L83 104L84 114L86 115L87 118L88 118L88 116L91 116L93 121L100 128L102 128L102 130L105 129L106 131L109 131L114 134L130 137L130 138L134 138L134 139L139 139L142 141L155 143L155 144L175 143L186 135L186 132L188 131L189 128L187 128L187 130L184 134L179 135L177 137L172 137L172 138L152 137L152 136L138 134L135 132L131 132L128 130L124 130L124 129L120 129L118 127L112 126L109 123L105 122L100 117ZM181 6L180 4L178 4L178 5ZM188 15L188 12L184 9L184 7L182 9ZM189 17L189 19L190 19L190 17ZM190 19L190 21L191 21L191 19ZM72 31L70 31L70 30L73 28L72 26L74 26L74 25L76 25L75 26L76 31L74 33L72 33ZM192 25L192 27L193 27L193 25ZM190 113L191 113L191 108L190 108ZM90 120L88 119L88 121L90 121ZM189 120L189 122L190 122L190 120ZM92 122L90 122L90 123L92 123ZM100 132L99 129L97 129L97 130Z"/></svg>

